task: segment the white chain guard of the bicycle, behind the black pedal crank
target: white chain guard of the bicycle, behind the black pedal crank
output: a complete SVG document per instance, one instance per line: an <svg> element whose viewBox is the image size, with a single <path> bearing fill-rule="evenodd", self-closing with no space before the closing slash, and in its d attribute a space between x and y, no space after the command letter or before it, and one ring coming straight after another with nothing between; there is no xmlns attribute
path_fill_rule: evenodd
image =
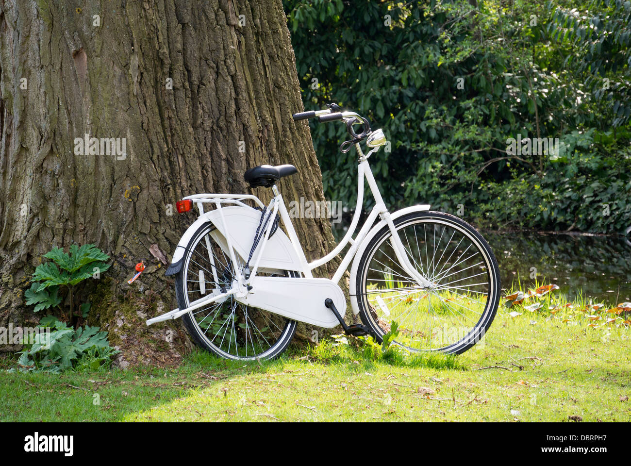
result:
<svg viewBox="0 0 631 466"><path fill-rule="evenodd" d="M252 291L237 301L291 320L324 328L339 325L333 311L324 306L327 298L333 299L342 318L346 313L343 291L328 278L253 277L250 284Z"/></svg>

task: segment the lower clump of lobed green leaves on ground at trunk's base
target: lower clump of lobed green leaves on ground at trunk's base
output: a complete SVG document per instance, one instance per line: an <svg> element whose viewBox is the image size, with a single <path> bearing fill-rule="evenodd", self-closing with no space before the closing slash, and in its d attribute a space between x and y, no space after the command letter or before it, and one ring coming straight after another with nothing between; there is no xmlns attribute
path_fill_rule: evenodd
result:
<svg viewBox="0 0 631 466"><path fill-rule="evenodd" d="M35 335L35 343L21 351L18 359L20 371L49 371L57 373L75 367L96 371L107 369L112 356L119 351L110 347L107 332L86 325L74 330L52 316L40 321L40 327L50 333Z"/></svg>

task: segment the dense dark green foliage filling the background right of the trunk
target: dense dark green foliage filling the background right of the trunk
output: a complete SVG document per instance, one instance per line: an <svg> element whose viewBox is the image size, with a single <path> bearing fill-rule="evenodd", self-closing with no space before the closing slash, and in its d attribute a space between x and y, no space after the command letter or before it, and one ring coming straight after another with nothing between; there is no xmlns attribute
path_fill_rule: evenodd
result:
<svg viewBox="0 0 631 466"><path fill-rule="evenodd" d="M493 227L631 225L628 2L283 4L305 108L338 102L391 141L370 160L390 208L463 204ZM352 209L344 129L309 124L325 195ZM509 154L517 134L559 138L566 155Z"/></svg>

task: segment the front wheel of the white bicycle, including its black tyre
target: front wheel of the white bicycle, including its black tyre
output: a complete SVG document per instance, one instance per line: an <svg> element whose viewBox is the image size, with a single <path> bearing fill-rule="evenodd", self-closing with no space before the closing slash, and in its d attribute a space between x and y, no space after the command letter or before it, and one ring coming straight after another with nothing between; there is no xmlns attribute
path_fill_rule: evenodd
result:
<svg viewBox="0 0 631 466"><path fill-rule="evenodd" d="M430 286L422 287L398 263L386 225L360 258L362 322L380 342L397 321L394 342L411 351L468 350L487 332L500 301L493 251L475 228L447 213L413 212L394 225L410 263Z"/></svg>

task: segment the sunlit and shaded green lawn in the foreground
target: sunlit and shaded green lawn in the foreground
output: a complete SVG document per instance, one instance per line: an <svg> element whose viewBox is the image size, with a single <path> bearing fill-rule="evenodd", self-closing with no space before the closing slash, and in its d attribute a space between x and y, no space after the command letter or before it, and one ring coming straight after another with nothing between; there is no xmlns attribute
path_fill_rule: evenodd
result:
<svg viewBox="0 0 631 466"><path fill-rule="evenodd" d="M3 373L0 420L631 421L627 326L513 310L456 357L373 361L326 340L262 364L196 350L172 369Z"/></svg>

